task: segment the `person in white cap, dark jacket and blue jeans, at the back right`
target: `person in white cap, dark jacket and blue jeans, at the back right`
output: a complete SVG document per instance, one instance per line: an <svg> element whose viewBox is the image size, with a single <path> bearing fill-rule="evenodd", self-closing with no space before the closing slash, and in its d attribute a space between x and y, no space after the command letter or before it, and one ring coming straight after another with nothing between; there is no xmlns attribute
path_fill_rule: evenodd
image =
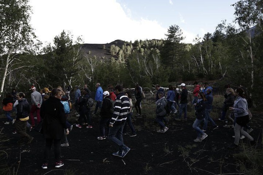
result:
<svg viewBox="0 0 263 175"><path fill-rule="evenodd" d="M181 101L180 101L180 107L179 107L179 114L178 118L175 118L175 120L181 120L182 113L184 111L184 118L182 120L187 120L187 96L188 96L188 91L185 87L185 83L182 83L181 85L182 92L181 92Z"/></svg>

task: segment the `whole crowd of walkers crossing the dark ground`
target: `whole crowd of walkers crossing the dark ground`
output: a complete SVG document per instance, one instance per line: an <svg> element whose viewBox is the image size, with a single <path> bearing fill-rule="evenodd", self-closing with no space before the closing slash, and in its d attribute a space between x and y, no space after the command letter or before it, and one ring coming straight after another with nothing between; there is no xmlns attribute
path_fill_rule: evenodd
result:
<svg viewBox="0 0 263 175"><path fill-rule="evenodd" d="M160 129L157 130L159 133L165 133L168 127L164 124L167 123L166 115L176 114L175 120L187 120L187 104L188 104L188 90L184 83L181 83L181 91L179 88L173 88L169 85L167 96L163 88L159 85L155 86L156 93L156 121L160 125ZM36 91L36 87L30 88L31 93L31 108L25 94L23 92L16 93L16 98L11 93L6 95L3 99L3 110L7 116L7 122L5 124L15 124L16 133L21 137L24 143L30 144L33 140L29 134L26 133L26 127L29 119L31 119L31 129L34 128L35 121L33 113L36 112L37 124L42 122L41 133L45 138L45 149L44 149L44 163L42 168L46 169L48 166L49 153L54 142L54 151L56 164L55 167L59 168L64 165L60 160L60 147L69 146L67 141L67 135L71 131L72 126L66 121L67 112L65 112L65 106L61 101L68 101L70 99L70 86L67 88L66 93L59 86L53 90L46 90L47 93L39 93ZM15 93L13 93L14 95ZM208 83L204 83L204 86L198 82L194 82L194 99L192 104L195 109L196 119L193 123L193 128L197 132L197 138L194 142L202 142L203 139L207 138L205 133L207 129L208 121L211 122L213 129L218 128L218 125L212 120L210 112L212 110L213 95L212 87ZM145 98L142 88L138 83L135 84L135 109L137 112L136 116L141 116L141 101ZM91 99L91 91L85 84L83 90L80 90L78 86L75 86L75 109L76 114L79 116L76 127L82 128L83 125L87 125L86 128L92 128L91 121L91 109L89 105L93 103ZM10 112L13 108L13 104L16 105L16 119L12 119ZM97 137L98 140L104 140L107 137L112 140L118 147L117 151L113 153L114 156L124 157L130 148L127 147L123 142L123 135L127 134L127 125L131 129L130 137L136 136L136 131L131 122L133 115L133 102L131 93L129 91L123 92L122 85L108 85L107 90L103 91L100 83L96 84L95 94L96 106L93 115L96 115L100 108L100 133ZM180 102L180 104L179 104ZM177 106L179 107L177 111ZM184 117L182 118L182 113ZM227 113L229 112L229 113ZM224 127L234 127L235 141L230 148L238 147L239 139L241 137L247 137L251 143L254 143L254 139L249 135L252 129L247 125L249 122L247 101L242 88L237 88L235 91L228 87L225 92L225 102L222 107L222 116L219 120L224 121L224 117L227 116L227 124ZM234 119L232 118L234 116ZM82 123L82 120L84 123ZM164 121L164 122L163 122ZM203 128L200 128L203 122ZM230 125L230 122L232 122ZM247 132L243 130L246 127ZM62 143L63 142L63 143ZM62 143L62 144L61 144Z"/></svg>

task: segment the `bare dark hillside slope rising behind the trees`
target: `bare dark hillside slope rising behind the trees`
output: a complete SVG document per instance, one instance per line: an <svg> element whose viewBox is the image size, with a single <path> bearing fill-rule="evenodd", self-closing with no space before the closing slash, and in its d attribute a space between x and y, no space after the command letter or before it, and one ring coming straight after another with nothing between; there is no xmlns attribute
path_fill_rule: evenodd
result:
<svg viewBox="0 0 263 175"><path fill-rule="evenodd" d="M111 45L115 45L118 47L122 47L125 41L115 40L114 42L106 43L106 44L83 44L82 50L84 53L90 53L90 55L94 55L97 58L111 58L112 55L109 53L109 48ZM105 45L105 49L103 49L103 45Z"/></svg>

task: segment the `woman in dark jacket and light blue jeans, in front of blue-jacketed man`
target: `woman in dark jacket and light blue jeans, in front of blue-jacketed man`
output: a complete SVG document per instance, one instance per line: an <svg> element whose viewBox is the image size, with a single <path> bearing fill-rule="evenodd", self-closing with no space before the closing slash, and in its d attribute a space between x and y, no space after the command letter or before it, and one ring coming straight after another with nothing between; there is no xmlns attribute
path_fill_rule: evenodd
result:
<svg viewBox="0 0 263 175"><path fill-rule="evenodd" d="M203 92L199 92L197 98L197 104L195 105L196 119L194 121L193 128L197 131L198 135L197 138L194 139L194 142L202 142L202 140L208 136L199 128L200 123L205 117L205 107L207 99L205 98L205 94Z"/></svg>

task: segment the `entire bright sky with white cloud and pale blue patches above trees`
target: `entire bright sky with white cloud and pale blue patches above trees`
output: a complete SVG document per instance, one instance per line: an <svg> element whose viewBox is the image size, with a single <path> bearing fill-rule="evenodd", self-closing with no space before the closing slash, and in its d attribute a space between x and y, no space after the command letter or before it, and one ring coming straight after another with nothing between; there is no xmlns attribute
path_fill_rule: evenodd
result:
<svg viewBox="0 0 263 175"><path fill-rule="evenodd" d="M232 23L237 0L30 0L31 25L38 39L53 43L65 30L75 40L106 44L115 40L166 39L178 25L185 43L213 33L222 20Z"/></svg>

